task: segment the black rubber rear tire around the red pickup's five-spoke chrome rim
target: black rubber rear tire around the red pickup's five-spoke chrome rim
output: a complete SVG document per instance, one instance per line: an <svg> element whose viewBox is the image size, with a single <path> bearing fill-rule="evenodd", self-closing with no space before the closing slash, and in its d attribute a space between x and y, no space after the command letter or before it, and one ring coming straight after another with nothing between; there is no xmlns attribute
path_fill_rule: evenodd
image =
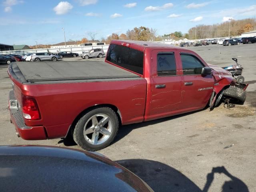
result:
<svg viewBox="0 0 256 192"><path fill-rule="evenodd" d="M105 142L103 142L102 144L94 145L88 142L84 138L84 126L86 125L86 122L96 114L106 114L112 121L113 130L111 131L109 138ZM78 144L84 150L97 151L105 148L114 140L118 132L118 127L119 127L118 117L111 108L109 107L96 108L94 110L87 112L84 116L82 116L82 118L80 118L80 120L78 120L73 131L73 138L76 144Z"/></svg>

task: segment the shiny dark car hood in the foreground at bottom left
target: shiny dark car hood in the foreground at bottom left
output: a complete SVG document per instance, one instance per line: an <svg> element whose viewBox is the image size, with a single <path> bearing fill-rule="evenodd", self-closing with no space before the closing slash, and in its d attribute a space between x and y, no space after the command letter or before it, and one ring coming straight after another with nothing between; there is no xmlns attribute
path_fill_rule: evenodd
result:
<svg viewBox="0 0 256 192"><path fill-rule="evenodd" d="M141 191L140 178L96 153L50 146L0 146L0 191Z"/></svg>

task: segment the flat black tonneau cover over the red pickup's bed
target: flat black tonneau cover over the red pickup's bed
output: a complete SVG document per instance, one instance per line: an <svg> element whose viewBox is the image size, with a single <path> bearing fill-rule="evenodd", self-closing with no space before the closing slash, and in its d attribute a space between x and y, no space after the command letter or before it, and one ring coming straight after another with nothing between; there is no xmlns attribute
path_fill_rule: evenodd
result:
<svg viewBox="0 0 256 192"><path fill-rule="evenodd" d="M18 62L17 66L26 82L139 77L103 61Z"/></svg>

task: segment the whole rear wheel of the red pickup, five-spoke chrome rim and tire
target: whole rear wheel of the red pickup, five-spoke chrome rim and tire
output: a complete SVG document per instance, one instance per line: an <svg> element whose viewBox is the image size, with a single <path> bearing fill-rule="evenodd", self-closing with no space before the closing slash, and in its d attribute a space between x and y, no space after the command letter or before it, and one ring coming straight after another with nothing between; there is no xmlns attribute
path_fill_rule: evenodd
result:
<svg viewBox="0 0 256 192"><path fill-rule="evenodd" d="M111 108L96 108L78 120L73 131L73 138L81 148L97 151L105 148L114 140L118 126L118 117Z"/></svg>

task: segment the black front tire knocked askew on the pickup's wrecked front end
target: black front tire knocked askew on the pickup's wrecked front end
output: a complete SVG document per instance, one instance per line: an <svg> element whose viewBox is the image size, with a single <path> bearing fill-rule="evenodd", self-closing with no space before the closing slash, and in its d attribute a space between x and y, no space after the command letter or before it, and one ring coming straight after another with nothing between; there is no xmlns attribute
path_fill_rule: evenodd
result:
<svg viewBox="0 0 256 192"><path fill-rule="evenodd" d="M238 102L240 104L243 104L246 99L246 92L243 89L235 86L230 86L224 90L223 95L226 98L231 98L234 102Z"/></svg>

